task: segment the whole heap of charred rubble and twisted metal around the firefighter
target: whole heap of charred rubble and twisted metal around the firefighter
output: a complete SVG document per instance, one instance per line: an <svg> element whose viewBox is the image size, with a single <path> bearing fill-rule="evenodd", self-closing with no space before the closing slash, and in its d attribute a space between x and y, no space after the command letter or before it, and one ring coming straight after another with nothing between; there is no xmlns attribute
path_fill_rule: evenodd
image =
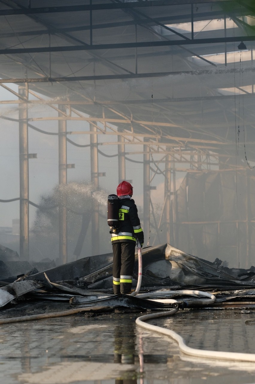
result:
<svg viewBox="0 0 255 384"><path fill-rule="evenodd" d="M4 247L2 247L4 248ZM45 263L20 261L15 252L2 250L5 259L0 260L0 307L19 300L67 301L71 305L126 306L128 308L160 309L171 305L139 298L139 295L112 294L112 253L85 257L77 261L55 266ZM8 255L8 257L7 257ZM13 259L13 260L12 260ZM17 260L18 259L18 260ZM255 268L248 270L228 268L216 258L209 262L189 255L170 244L147 247L142 250L143 275L140 292L171 291L184 289L210 290L219 302L255 303ZM47 266L43 268L43 266ZM18 273L17 273L18 272ZM16 276L14 277L14 273ZM133 286L138 278L138 257L134 268ZM13 280L12 280L13 279ZM12 280L12 281L10 281ZM176 296L176 294L175 294ZM189 302L182 296L182 302ZM185 296L185 295L184 295ZM233 301L234 300L234 301Z"/></svg>

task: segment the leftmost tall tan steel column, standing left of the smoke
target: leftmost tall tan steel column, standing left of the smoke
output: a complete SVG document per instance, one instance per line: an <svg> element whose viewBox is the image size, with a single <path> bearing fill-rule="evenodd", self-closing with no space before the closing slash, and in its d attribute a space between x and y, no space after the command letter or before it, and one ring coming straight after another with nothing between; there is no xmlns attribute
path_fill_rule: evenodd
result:
<svg viewBox="0 0 255 384"><path fill-rule="evenodd" d="M19 86L19 95L28 99L28 84ZM20 257L29 260L29 173L28 173L28 109L19 104L20 150Z"/></svg>

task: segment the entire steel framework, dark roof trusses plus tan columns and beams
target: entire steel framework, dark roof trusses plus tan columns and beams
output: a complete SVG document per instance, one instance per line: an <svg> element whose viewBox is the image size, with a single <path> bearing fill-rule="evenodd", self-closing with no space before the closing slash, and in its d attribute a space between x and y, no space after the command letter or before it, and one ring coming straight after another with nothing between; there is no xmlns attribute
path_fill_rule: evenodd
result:
<svg viewBox="0 0 255 384"><path fill-rule="evenodd" d="M35 154L28 153L28 128L36 129L42 134L51 134L57 135L59 138L59 184L67 183L67 169L71 168L72 164L67 164L67 154L66 154L66 145L67 141L77 147L90 147L90 171L91 171L91 180L94 182L95 186L99 185L99 177L103 175L103 172L99 172L99 162L98 156L106 156L103 151L100 151L99 147L103 147L105 145L115 145L116 153L110 155L112 157L117 157L118 159L118 181L123 180L125 178L125 170L126 164L128 161L134 161L129 159L129 155L133 154L142 154L143 155L143 191L144 191L144 204L143 204L143 220L144 220L144 232L145 232L145 243L150 238L151 227L155 230L155 235L151 235L150 242L154 243L157 237L160 237L160 228L165 227L164 232L164 241L170 242L173 239L173 242L176 241L178 237L178 215L177 215L177 203L176 203L176 173L177 172L243 172L244 167L235 166L234 161L230 161L229 159L234 160L234 156L230 156L229 147L231 146L231 142L227 140L224 141L223 137L211 137L211 140L208 138L199 139L199 137L182 137L173 134L167 134L166 131L162 134L161 128L183 128L183 126L174 124L174 122L162 122L162 121L147 121L147 120L138 120L130 118L130 116L125 116L124 113L120 113L117 110L117 105L119 104L140 104L140 103L151 103L150 99L132 99L127 101L100 101L96 98L90 99L79 93L77 89L72 89L72 81L95 81L97 80L107 80L107 79L132 79L132 78L153 78L153 77L162 77L162 76L176 76L179 74L186 75L199 75L199 74L209 74L210 71L160 71L160 72L145 72L139 73L139 60L140 58L146 57L148 53L137 53L137 48L140 47L165 47L165 50L159 52L159 55L169 54L169 51L166 49L168 46L175 46L175 51L171 51L171 53L176 53L180 55L180 52L185 52L186 55L194 55L197 58L206 61L208 64L215 66L209 60L206 60L203 55L202 50L203 47L199 47L198 45L212 44L217 43L217 48L220 47L222 52L225 52L225 66L227 65L227 48L228 43L233 43L233 41L254 41L255 36L226 36L226 26L224 27L225 35L221 38L199 38L197 39L194 36L194 7L196 3L214 3L215 0L201 0L201 1L193 1L193 0L157 0L154 2L151 1L137 1L137 2L118 2L114 1L111 3L104 4L96 4L96 5L84 5L84 6L72 6L70 7L40 7L40 8L31 8L31 7L23 7L13 2L12 0L0 0L0 3L5 4L7 9L0 10L0 16L12 16L12 15L26 15L31 20L37 23L40 28L36 31L18 31L13 33L1 33L0 37L16 37L16 36L31 36L47 34L49 36L48 44L39 48L38 46L29 46L28 48L6 48L1 47L0 50L1 55L5 55L10 61L15 64L21 65L22 68L26 68L27 71L30 71L33 76L27 76L25 73L24 78L6 78L5 74L2 74L3 79L0 80L0 85L5 89L8 89L12 94L18 97L18 100L8 100L1 101L1 104L18 104L19 109L19 119L10 119L12 121L16 121L19 124L19 135L20 135L20 197L17 198L20 200L20 225L21 225L21 236L20 236L20 252L22 258L29 258L28 246L29 246L29 237L28 237L28 207L29 207L29 180L28 180L28 160L32 157L35 157ZM181 33L174 31L168 26L162 24L168 22L168 17L165 17L161 13L161 17L159 18L151 18L145 14L145 12L141 12L141 10L146 10L146 8L151 7L166 7L171 5L180 5L180 4L190 4L190 13L187 15L176 15L171 18L171 22L178 22L183 20L185 22L191 22L191 36L186 36ZM217 0L217 3L232 3L232 1L226 0ZM123 12L129 15L131 20L124 21L120 25L117 22L112 23L104 23L97 24L94 23L94 15L99 9L101 10L114 10L114 9L122 9ZM162 8L163 9L163 8ZM58 13L58 12L81 12L87 11L89 12L89 22L83 26L77 26L72 28L55 28L54 25L48 23L40 18L40 15L46 15L48 13ZM238 13L239 12L239 13ZM196 13L196 20L204 20L204 17L209 18L220 18L224 17L226 21L226 17L235 18L245 31L247 25L240 19L237 19L237 16L249 15L250 10L247 8L247 5L240 5L239 11L235 12L233 15L231 12L225 13L224 10L222 12L208 12L208 13ZM248 13L247 13L248 12ZM104 28L114 28L115 26L125 26L125 25L133 25L134 26L134 34L132 37L132 41L128 43L113 43L109 44L95 44L94 43L94 30L102 30ZM144 30L149 31L153 35L153 40L150 41L138 41L137 34L137 26L140 26ZM168 30L173 32L178 39L170 40L168 36L160 35L153 26L161 27L164 30ZM253 28L253 26L249 26ZM89 41L80 40L71 35L71 32L75 31L89 31ZM246 32L246 31L245 31ZM244 33L245 33L244 32ZM66 41L66 45L52 46L52 35L59 36L61 39ZM21 44L21 43L20 43ZM70 45L71 44L71 45ZM194 45L196 48L196 52L191 51L187 48L191 48L190 46ZM115 63L112 58L105 58L104 56L100 56L100 51L102 49L115 49L120 50L119 56L124 55L123 48L132 48L133 51L130 51L128 58L133 60L134 70L130 71L124 66L120 66ZM193 48L194 49L194 48ZM213 48L212 48L213 50ZM52 52L64 52L64 51L86 51L86 54L90 57L87 58L87 61L92 63L94 62L94 71L90 76L62 76L59 73L53 71L51 64L51 53ZM98 53L99 51L99 53ZM44 63L39 66L36 62L32 62L32 64L28 64L28 60L26 60L26 56L21 56L22 54L32 53L32 52L46 52L48 53L48 60L44 61ZM133 52L133 54L131 54ZM199 55L201 53L201 55ZM15 56L14 56L15 55ZM125 55L123 56L125 57ZM31 61L31 60L30 60ZM45 64L46 62L46 64ZM108 71L103 74L95 73L95 63L100 62L104 65L107 70L110 69L112 74L108 74ZM214 73L238 73L241 70L238 68L225 68L225 69L216 69ZM251 73L254 71L254 68L245 68L244 71L250 71ZM44 100L41 96L39 96L40 84L39 83L61 83L66 89L72 90L74 94L77 96L77 100L68 100L62 99L58 101ZM3 83L18 83L23 85L19 86L19 92L15 93L10 88L5 86ZM36 89L37 92L33 92L32 89L29 88L30 83L37 83ZM45 90L43 90L45 91ZM37 98L37 100L30 100L28 95L33 95ZM207 100L216 100L220 101L221 99L234 99L237 96L215 96L210 94L206 96ZM243 98L253 97L252 94L245 94ZM154 103L174 103L180 101L201 101L204 100L204 96L197 96L192 98L165 98L165 99L154 99ZM45 103L49 105L50 108L54 109L58 113L58 116L55 117L43 117L43 118L30 118L28 112L28 104L36 104L36 103ZM102 116L90 114L87 116L85 113L81 112L78 108L86 105L97 105L102 108ZM105 116L105 111L110 111L111 117ZM113 117L114 116L114 117ZM2 118L4 118L2 116ZM38 129L36 126L31 124L31 122L35 121L49 121L56 120L58 121L58 132L44 132ZM89 124L89 129L87 131L67 131L67 121L84 121ZM248 123L248 122L246 122ZM114 124L117 126L117 129L112 126ZM221 126L229 127L229 122L222 123ZM253 121L250 122L251 127L255 127ZM134 129L136 127L137 129ZM196 129L196 127L194 127ZM210 128L207 124L204 128ZM139 132L139 133L138 133ZM198 130L197 130L198 132ZM196 133L197 133L196 132ZM70 139L74 134L89 134L90 135L90 144L81 146L80 144L75 143ZM110 137L117 137L117 141L107 141L100 142L100 135L108 135ZM129 145L138 146L137 151L126 151ZM141 150L142 148L142 150ZM219 157L220 153L220 157ZM109 156L109 155L107 155ZM158 158L160 157L160 159ZM187 165L188 164L188 165ZM227 164L227 166L226 166ZM156 175L160 174L164 180L164 202L161 207L161 212L159 217L156 216L155 213L155 205L151 200L150 191L153 189L151 185ZM15 199L11 199L15 200ZM173 230L171 232L170 228L170 203L172 203L173 207ZM33 204L35 205L35 204ZM65 263L67 261L67 210L66 207L59 207L59 218L60 218L60 228L59 228L59 253L60 260ZM91 218L93 233L95 236L93 237L92 243L92 252L94 254L99 253L99 211L97 209L94 210ZM153 237L154 236L154 237Z"/></svg>

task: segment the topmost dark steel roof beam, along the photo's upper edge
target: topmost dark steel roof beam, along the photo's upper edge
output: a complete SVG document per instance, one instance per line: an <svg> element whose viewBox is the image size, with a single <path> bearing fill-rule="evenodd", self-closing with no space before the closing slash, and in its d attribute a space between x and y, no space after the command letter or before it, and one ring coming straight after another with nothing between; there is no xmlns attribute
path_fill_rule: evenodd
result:
<svg viewBox="0 0 255 384"><path fill-rule="evenodd" d="M184 4L197 4L197 3L213 3L213 2L233 2L233 0L151 0L141 2L128 2L128 3L104 3L92 5L69 5L62 7L39 7L39 8L25 8L22 9L2 9L0 16L10 15L35 15L38 13L60 13L60 12L82 12L82 11L98 11L98 10L113 10L113 9L130 9L130 8L148 8L148 7L161 7L169 5L184 5ZM8 5L8 3L5 3Z"/></svg>

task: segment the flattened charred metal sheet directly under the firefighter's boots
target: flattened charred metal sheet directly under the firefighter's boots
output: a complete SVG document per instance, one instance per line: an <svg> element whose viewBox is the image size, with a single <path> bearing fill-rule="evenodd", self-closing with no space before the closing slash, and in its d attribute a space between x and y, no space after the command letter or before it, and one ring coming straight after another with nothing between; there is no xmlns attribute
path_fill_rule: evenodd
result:
<svg viewBox="0 0 255 384"><path fill-rule="evenodd" d="M84 301L85 300L85 301ZM176 308L178 306L177 303L173 304L165 304L159 303L155 301L150 301L142 298L138 298L136 296L130 295L113 295L109 298L102 298L95 301L90 301L89 303L86 301L87 298L74 296L70 300L70 304L84 304L87 306L109 306L109 307L128 307L128 308L141 308L141 309L163 309L163 308Z"/></svg>

